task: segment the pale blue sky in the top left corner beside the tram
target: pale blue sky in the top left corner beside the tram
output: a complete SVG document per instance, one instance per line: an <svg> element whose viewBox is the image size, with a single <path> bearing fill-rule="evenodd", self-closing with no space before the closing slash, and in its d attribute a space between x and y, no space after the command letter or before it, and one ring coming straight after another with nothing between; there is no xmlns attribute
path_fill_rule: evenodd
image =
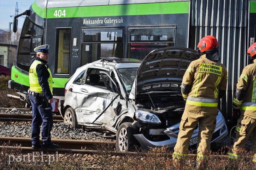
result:
<svg viewBox="0 0 256 170"><path fill-rule="evenodd" d="M32 3L35 0L1 0L0 5L0 29L9 30L9 23L13 22L13 18L15 15L16 2L18 2L19 13L23 13L28 10ZM12 16L12 17L10 17ZM22 28L23 17L18 18L18 29ZM13 25L11 24L11 30Z"/></svg>

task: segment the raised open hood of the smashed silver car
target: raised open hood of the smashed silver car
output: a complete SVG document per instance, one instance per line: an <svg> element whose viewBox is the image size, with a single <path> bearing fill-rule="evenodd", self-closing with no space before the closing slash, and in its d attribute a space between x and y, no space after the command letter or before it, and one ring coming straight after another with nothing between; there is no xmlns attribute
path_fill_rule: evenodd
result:
<svg viewBox="0 0 256 170"><path fill-rule="evenodd" d="M150 52L142 61L131 89L129 99L140 93L177 89L191 61L201 56L200 51L172 46Z"/></svg>

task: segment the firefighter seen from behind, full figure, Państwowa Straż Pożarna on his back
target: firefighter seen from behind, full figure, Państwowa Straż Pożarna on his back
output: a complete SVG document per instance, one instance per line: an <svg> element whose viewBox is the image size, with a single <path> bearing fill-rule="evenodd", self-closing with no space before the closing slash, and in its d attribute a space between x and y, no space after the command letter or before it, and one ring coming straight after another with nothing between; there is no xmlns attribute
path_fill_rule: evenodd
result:
<svg viewBox="0 0 256 170"><path fill-rule="evenodd" d="M227 70L219 62L217 39L208 35L197 47L203 55L190 63L181 85L186 105L172 156L174 163L187 157L190 138L198 123L197 163L205 159L215 130L218 100L227 88Z"/></svg>

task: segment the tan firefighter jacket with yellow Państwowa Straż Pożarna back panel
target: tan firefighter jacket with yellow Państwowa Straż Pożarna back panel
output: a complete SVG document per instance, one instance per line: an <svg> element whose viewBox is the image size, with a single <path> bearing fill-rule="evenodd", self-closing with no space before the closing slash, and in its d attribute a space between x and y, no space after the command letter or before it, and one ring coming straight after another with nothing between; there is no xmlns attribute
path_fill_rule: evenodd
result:
<svg viewBox="0 0 256 170"><path fill-rule="evenodd" d="M219 91L227 88L227 69L202 55L190 63L184 74L181 93L186 109L192 113L213 115L218 112Z"/></svg>

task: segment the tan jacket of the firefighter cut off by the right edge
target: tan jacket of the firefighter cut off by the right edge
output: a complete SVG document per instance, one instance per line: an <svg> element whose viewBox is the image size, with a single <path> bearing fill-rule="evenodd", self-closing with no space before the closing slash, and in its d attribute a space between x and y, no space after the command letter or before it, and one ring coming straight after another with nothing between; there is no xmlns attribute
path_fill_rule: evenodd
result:
<svg viewBox="0 0 256 170"><path fill-rule="evenodd" d="M251 118L256 119L256 59L247 65L238 79L237 90L233 99L233 107L241 110Z"/></svg>

